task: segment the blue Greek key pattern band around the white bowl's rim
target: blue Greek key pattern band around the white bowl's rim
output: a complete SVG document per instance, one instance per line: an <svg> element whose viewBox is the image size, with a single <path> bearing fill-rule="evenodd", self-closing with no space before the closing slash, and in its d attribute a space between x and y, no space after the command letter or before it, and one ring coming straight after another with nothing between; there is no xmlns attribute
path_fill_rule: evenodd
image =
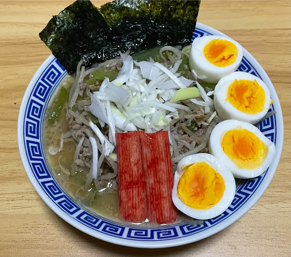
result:
<svg viewBox="0 0 291 257"><path fill-rule="evenodd" d="M197 28L192 40L195 37L205 35L210 35L210 33ZM260 77L245 57L243 57L238 70L249 72ZM63 212L88 228L112 237L136 241L163 241L188 237L219 224L239 211L254 192L256 192L268 173L268 170L266 170L259 177L243 180L237 186L235 197L229 208L218 217L204 221L202 225L170 224L162 228L137 228L121 225L99 215L94 215L76 204L55 181L49 171L42 147L42 124L45 109L53 92L66 74L67 72L56 59L52 60L43 69L42 74L36 80L27 102L23 123L23 140L28 163L42 190ZM269 111L272 110L274 110L273 105ZM258 128L276 144L276 115L258 124Z"/></svg>

